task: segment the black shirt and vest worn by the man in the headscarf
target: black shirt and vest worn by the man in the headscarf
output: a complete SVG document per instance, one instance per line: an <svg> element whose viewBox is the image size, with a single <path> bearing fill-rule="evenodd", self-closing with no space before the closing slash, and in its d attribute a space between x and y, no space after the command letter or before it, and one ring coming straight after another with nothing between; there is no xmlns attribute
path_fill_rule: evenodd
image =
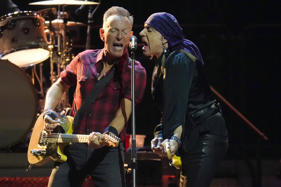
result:
<svg viewBox="0 0 281 187"><path fill-rule="evenodd" d="M163 139L171 137L179 125L183 129L185 150L192 147L200 132L227 135L225 121L216 109L201 115L200 119L205 120L200 120L200 123L191 117L216 102L202 63L187 51L184 53L178 50L170 53L165 69L161 71L160 59L153 73L152 93L163 114Z"/></svg>

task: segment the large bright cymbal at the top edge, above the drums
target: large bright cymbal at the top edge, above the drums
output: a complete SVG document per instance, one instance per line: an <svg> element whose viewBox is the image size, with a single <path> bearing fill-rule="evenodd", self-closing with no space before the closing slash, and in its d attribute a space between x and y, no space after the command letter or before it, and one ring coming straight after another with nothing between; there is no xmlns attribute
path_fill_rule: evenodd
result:
<svg viewBox="0 0 281 187"><path fill-rule="evenodd" d="M49 0L29 3L29 5L92 5L100 4L92 1L80 1L80 0Z"/></svg>

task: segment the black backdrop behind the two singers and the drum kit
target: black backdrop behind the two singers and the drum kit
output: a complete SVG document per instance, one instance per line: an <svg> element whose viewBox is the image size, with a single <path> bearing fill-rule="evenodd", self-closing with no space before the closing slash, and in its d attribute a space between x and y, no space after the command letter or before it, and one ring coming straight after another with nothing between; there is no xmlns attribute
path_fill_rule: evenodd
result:
<svg viewBox="0 0 281 187"><path fill-rule="evenodd" d="M13 2L22 11L58 7L28 5L36 2L34 0ZM217 98L222 104L229 130L227 158L255 158L257 150L262 158L280 158L280 1L102 0L94 14L91 49L103 47L99 29L102 27L103 13L111 6L124 7L134 16L133 31L139 41L143 23L152 13L167 12L174 15L184 30L185 38L200 49L210 84L269 139L263 141L259 138L246 122ZM65 11L75 21L86 23L88 6L79 16L74 13L78 7L68 5ZM69 28L75 55L85 49L86 29ZM149 57L142 55L141 48L140 44L136 60L147 71L147 87L143 102L136 108L136 134L145 134L145 145L149 145L160 113L150 94L155 57L149 60ZM50 86L49 59L44 61L44 75L44 87L47 88ZM130 129L129 124L128 133ZM261 145L260 149L257 145Z"/></svg>

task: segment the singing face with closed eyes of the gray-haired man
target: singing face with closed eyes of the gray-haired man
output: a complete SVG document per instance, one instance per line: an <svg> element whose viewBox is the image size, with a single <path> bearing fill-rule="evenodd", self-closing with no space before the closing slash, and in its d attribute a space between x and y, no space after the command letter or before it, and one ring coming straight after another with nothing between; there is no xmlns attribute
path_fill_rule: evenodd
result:
<svg viewBox="0 0 281 187"><path fill-rule="evenodd" d="M133 35L132 25L127 17L112 15L100 29L100 37L104 41L105 56L121 58L127 51L129 39Z"/></svg>

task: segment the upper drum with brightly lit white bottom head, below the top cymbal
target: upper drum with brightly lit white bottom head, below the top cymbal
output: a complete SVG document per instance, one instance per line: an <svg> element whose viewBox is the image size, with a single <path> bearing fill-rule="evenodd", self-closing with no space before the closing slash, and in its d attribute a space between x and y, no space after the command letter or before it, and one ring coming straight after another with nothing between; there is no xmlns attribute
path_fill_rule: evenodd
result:
<svg viewBox="0 0 281 187"><path fill-rule="evenodd" d="M31 66L49 56L45 19L36 12L10 13L0 18L0 59L18 67Z"/></svg>

